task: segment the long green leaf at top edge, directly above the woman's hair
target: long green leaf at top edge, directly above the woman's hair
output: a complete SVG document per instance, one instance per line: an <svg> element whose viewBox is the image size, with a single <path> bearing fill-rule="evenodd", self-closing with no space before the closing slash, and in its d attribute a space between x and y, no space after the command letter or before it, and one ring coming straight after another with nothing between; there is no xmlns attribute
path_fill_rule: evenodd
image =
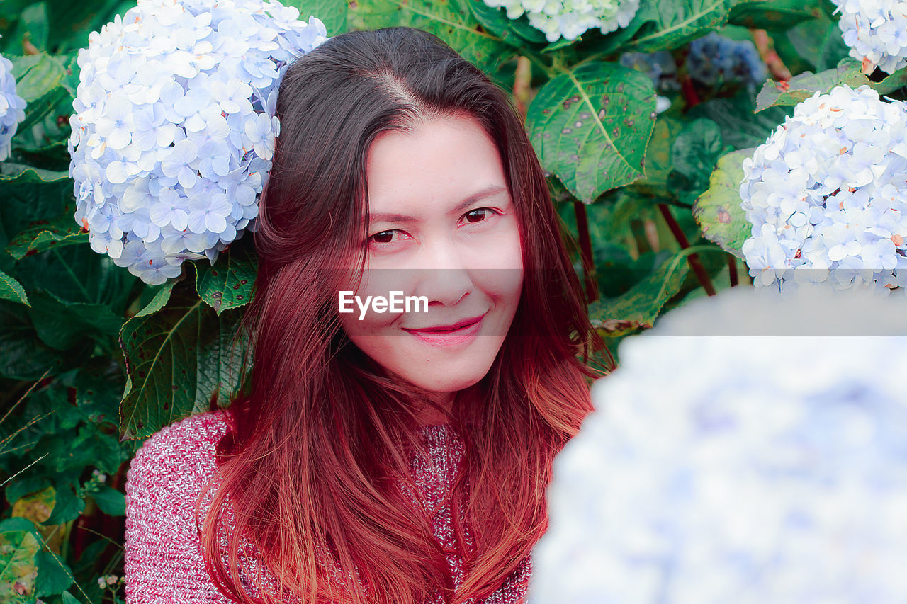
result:
<svg viewBox="0 0 907 604"><path fill-rule="evenodd" d="M468 2L474 0L363 0L350 3L353 30L405 25L435 34L490 77L516 51L483 30Z"/></svg>

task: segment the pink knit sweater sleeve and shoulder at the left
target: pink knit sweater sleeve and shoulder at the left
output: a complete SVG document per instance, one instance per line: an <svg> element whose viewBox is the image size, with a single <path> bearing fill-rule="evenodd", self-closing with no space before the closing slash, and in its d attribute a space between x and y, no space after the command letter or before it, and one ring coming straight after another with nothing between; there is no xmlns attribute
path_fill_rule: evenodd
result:
<svg viewBox="0 0 907 604"><path fill-rule="evenodd" d="M152 434L126 475L126 604L230 604L201 556L194 505L228 430L223 410Z"/></svg>

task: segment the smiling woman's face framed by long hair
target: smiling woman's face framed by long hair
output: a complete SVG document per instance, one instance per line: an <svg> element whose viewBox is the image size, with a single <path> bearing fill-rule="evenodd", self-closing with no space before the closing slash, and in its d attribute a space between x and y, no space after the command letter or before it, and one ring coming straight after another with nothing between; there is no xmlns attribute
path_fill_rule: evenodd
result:
<svg viewBox="0 0 907 604"><path fill-rule="evenodd" d="M366 271L341 325L389 372L446 400L488 373L520 301L521 239L501 158L477 122L448 116L382 133L366 179ZM400 302L377 312L368 296ZM411 296L424 300L407 309Z"/></svg>

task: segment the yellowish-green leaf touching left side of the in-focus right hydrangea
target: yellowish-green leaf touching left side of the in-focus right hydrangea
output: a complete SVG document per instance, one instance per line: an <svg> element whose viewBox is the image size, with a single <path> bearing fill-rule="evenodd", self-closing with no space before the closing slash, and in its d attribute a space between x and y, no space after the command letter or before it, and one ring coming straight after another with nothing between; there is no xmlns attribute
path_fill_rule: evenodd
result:
<svg viewBox="0 0 907 604"><path fill-rule="evenodd" d="M744 259L741 249L752 230L740 207L740 182L744 176L743 161L753 151L741 149L718 160L708 190L693 203L693 217L705 238L740 259Z"/></svg>

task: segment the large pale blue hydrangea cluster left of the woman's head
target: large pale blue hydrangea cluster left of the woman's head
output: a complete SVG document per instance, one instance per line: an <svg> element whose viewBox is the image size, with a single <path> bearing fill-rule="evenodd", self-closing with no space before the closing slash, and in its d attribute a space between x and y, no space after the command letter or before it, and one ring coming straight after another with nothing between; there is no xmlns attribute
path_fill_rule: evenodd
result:
<svg viewBox="0 0 907 604"><path fill-rule="evenodd" d="M289 63L327 40L263 0L139 0L89 35L70 119L75 220L151 285L255 230Z"/></svg>

